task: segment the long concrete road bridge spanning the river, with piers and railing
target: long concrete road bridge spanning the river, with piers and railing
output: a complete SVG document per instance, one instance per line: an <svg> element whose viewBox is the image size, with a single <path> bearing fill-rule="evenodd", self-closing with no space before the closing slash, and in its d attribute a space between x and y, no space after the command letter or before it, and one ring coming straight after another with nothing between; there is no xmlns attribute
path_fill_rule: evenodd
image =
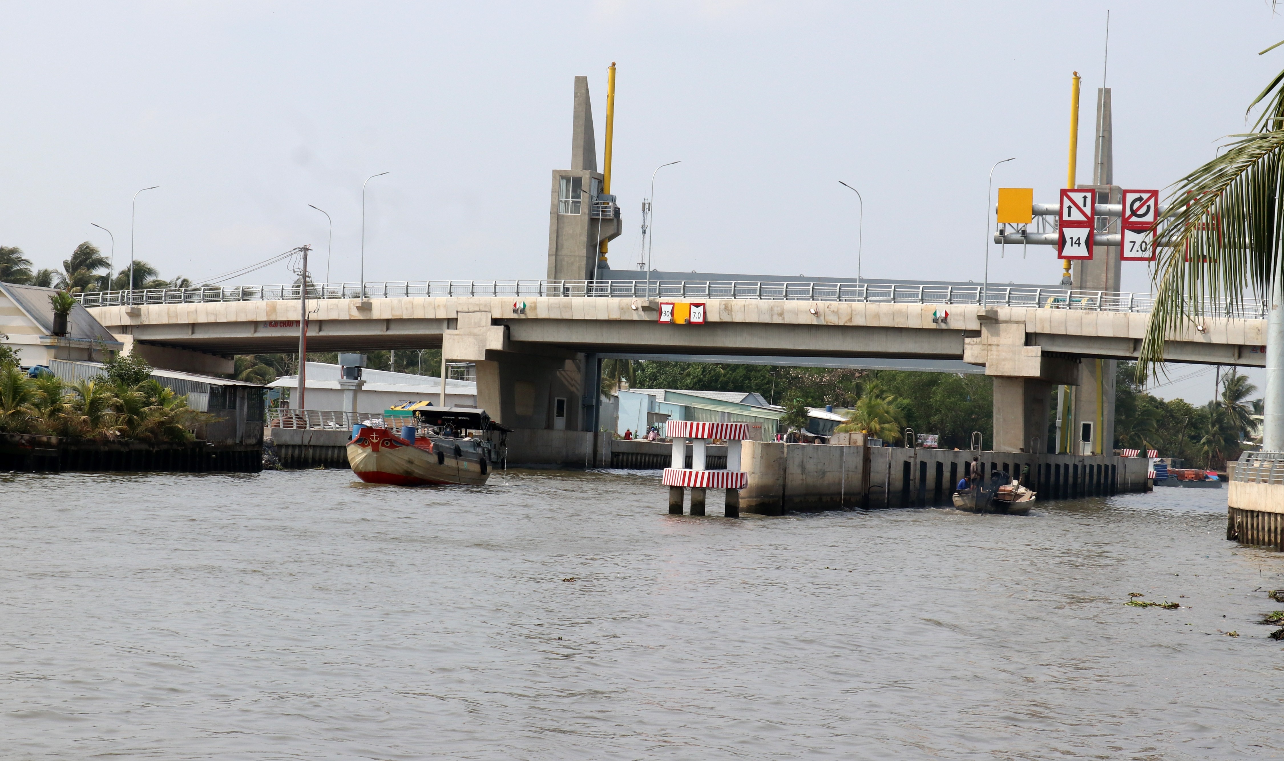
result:
<svg viewBox="0 0 1284 761"><path fill-rule="evenodd" d="M143 348L154 363L229 372L234 354L297 350L299 287L107 291L80 298L99 322ZM583 431L597 429L594 389L602 354L963 361L995 377L995 449L1017 452L1035 439L1045 440L1054 385L1084 385L1081 373L1094 370L1091 361L1138 357L1153 307L1149 294L982 290L791 281L318 284L307 294L308 345L442 348L451 361L478 364L478 402L499 422L551 429L555 399L578 399L578 406L569 404L565 426ZM665 302L702 303L706 322L661 323ZM1206 304L1204 312L1220 317L1168 336L1167 361L1265 364L1260 302Z"/></svg>

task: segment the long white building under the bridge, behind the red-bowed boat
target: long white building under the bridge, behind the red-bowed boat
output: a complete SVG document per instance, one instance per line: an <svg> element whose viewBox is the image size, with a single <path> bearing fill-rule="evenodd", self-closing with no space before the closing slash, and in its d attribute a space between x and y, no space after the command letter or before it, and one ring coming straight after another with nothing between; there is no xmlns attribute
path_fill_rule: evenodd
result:
<svg viewBox="0 0 1284 761"><path fill-rule="evenodd" d="M344 411L343 390L339 388L339 366L324 362L308 362L307 409ZM357 394L357 412L381 415L393 404L403 402L431 402L438 406L442 393L442 379L411 372L389 372L386 370L361 371L365 381ZM281 389L293 397L299 388L299 376L288 375L270 382L268 386ZM290 404L294 407L294 404ZM446 380L447 407L476 407L478 385L474 381Z"/></svg>

